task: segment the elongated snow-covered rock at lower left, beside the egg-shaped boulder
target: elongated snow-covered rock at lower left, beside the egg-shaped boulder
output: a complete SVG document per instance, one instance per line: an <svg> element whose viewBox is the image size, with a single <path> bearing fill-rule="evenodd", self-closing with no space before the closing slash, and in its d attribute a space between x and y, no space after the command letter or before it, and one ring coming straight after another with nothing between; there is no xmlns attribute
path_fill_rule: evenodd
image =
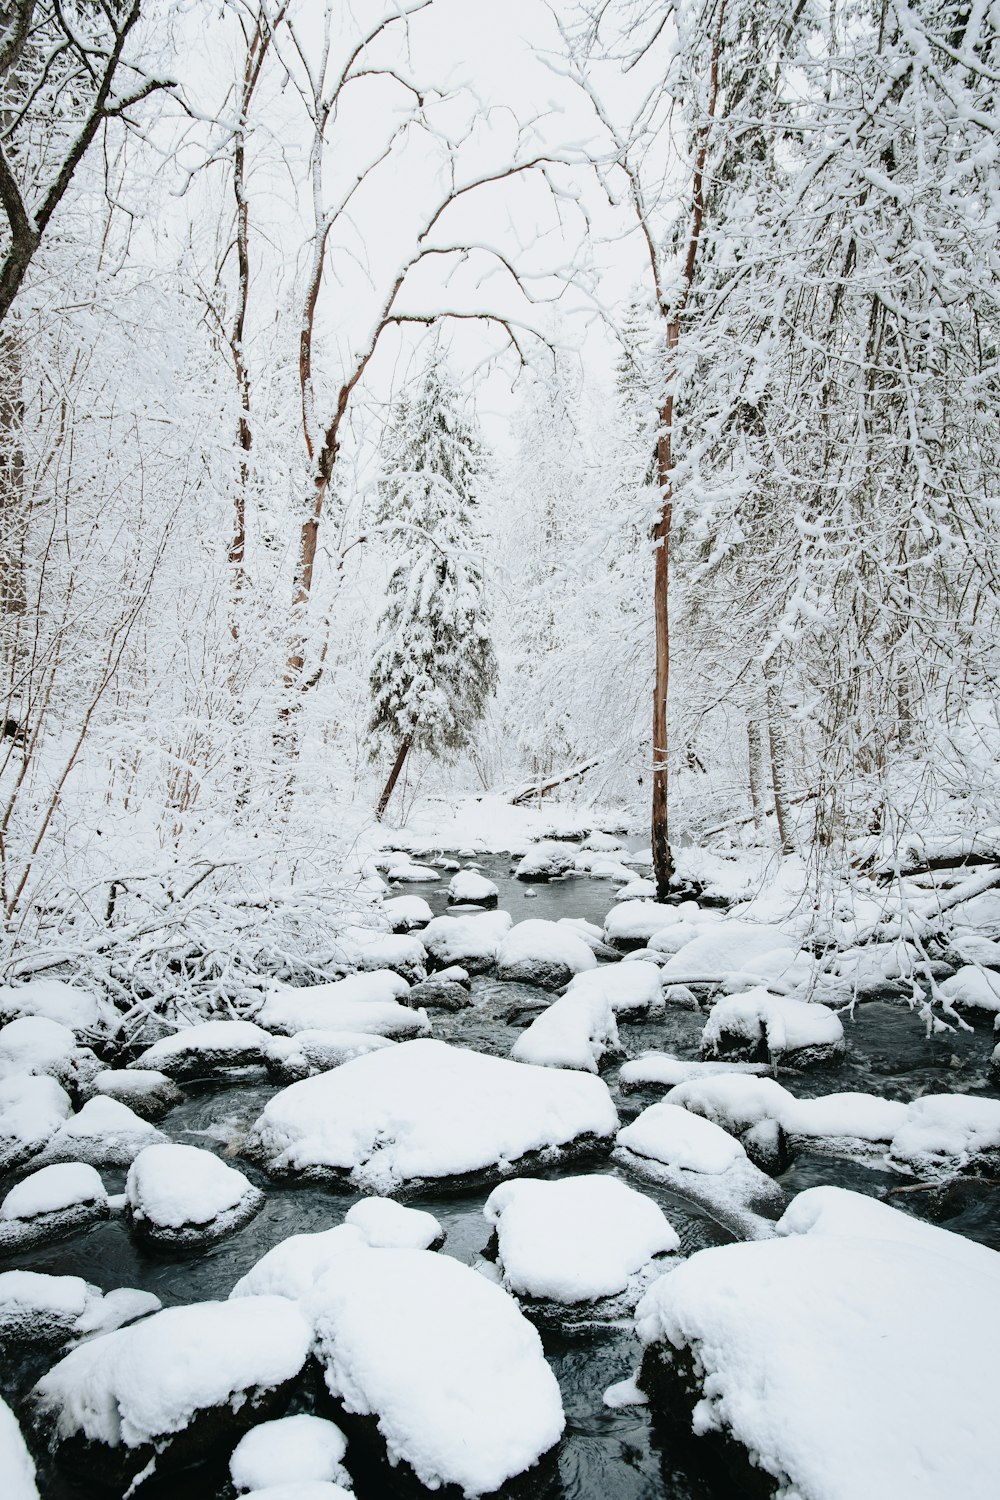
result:
<svg viewBox="0 0 1000 1500"><path fill-rule="evenodd" d="M310 1342L286 1298L165 1308L73 1348L33 1395L61 1442L159 1448L205 1408L229 1407L247 1425L253 1395L294 1378Z"/></svg>

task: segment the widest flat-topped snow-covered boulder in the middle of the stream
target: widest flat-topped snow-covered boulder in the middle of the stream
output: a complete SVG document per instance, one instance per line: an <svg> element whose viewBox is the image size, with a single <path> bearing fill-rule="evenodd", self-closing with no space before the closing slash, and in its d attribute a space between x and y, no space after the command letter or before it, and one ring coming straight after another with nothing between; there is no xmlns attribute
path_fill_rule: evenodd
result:
<svg viewBox="0 0 1000 1500"><path fill-rule="evenodd" d="M244 1150L277 1176L391 1194L589 1154L616 1128L598 1078L411 1041L292 1083L265 1106Z"/></svg>

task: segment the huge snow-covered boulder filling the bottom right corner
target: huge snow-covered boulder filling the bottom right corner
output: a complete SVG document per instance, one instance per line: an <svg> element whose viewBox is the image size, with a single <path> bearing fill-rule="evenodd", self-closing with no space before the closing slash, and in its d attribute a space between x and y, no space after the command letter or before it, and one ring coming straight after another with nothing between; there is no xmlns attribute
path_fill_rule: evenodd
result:
<svg viewBox="0 0 1000 1500"><path fill-rule="evenodd" d="M804 1500L993 1500L1000 1256L829 1191L796 1198L781 1238L699 1251L651 1287L654 1412L724 1432L748 1476Z"/></svg>

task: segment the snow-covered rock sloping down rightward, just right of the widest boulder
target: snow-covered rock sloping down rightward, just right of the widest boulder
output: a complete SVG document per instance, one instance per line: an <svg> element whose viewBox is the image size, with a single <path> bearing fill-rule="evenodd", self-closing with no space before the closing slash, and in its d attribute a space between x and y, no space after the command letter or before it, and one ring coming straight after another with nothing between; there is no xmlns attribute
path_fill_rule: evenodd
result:
<svg viewBox="0 0 1000 1500"><path fill-rule="evenodd" d="M703 1203L723 1224L766 1234L786 1197L738 1140L676 1104L651 1104L618 1132L615 1161Z"/></svg>

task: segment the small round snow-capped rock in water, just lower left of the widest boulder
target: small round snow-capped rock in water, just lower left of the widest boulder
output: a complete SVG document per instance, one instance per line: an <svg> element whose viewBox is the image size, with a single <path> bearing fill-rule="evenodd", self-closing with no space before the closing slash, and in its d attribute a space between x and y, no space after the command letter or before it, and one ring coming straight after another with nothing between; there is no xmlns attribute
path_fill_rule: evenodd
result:
<svg viewBox="0 0 1000 1500"><path fill-rule="evenodd" d="M198 1146L147 1146L124 1184L132 1232L159 1248L210 1245L259 1214L264 1194Z"/></svg>

